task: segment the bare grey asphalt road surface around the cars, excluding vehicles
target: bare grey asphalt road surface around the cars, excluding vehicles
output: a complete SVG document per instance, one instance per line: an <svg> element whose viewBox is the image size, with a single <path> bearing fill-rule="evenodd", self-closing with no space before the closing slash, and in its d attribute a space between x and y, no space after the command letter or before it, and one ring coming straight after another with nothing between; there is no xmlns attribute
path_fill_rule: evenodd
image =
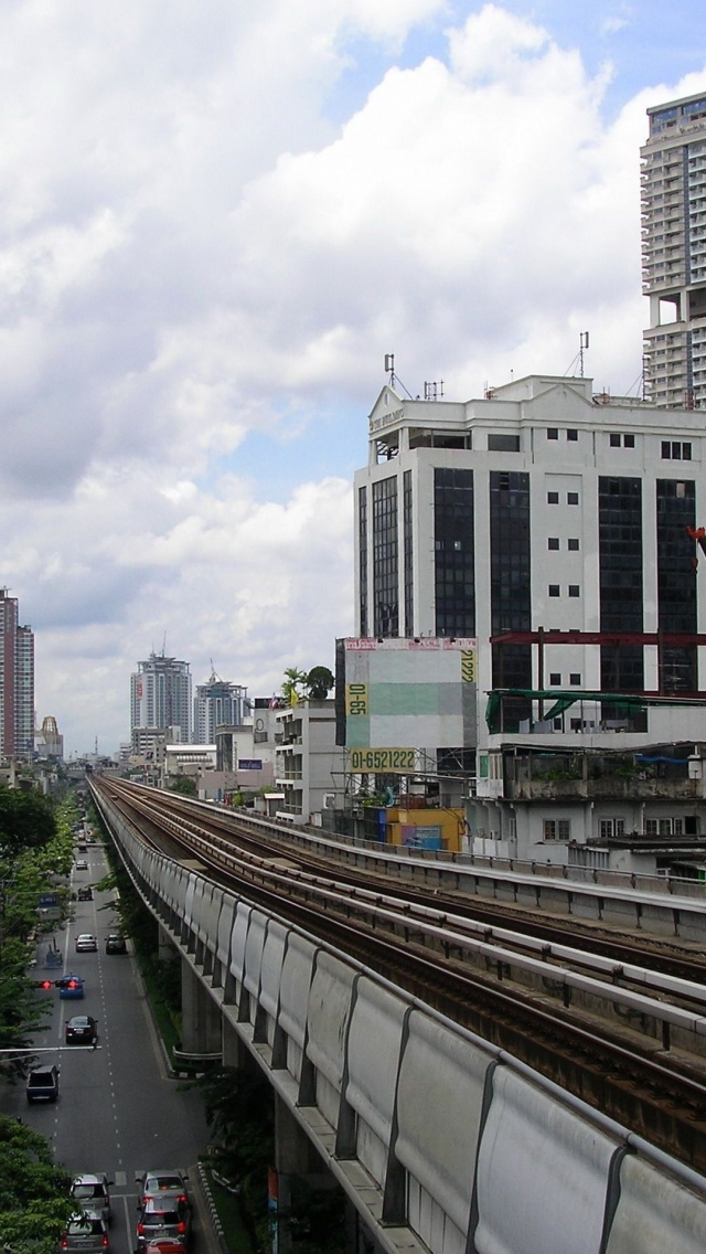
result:
<svg viewBox="0 0 706 1254"><path fill-rule="evenodd" d="M75 870L71 888L99 880L107 870L103 848L89 846L84 855L88 872ZM51 1004L46 1027L35 1036L41 1047L63 1046L64 1025L71 1014L98 1020L98 1048L64 1047L41 1061L60 1066L59 1100L55 1105L26 1102L24 1087L0 1082L0 1111L21 1117L49 1137L58 1162L69 1171L102 1172L114 1181L112 1254L130 1254L135 1248L138 1185L135 1171L152 1167L181 1167L189 1172L194 1200L194 1251L216 1250L198 1186L196 1162L208 1144L208 1130L198 1093L179 1092L167 1073L161 1041L154 1031L147 999L132 956L107 954L105 937L115 930L110 909L102 909L109 893L93 894L92 902L75 902L74 918L55 935L63 951L63 972L82 976L83 1001L61 1001L59 991L41 992ZM98 937L98 953L75 953L75 937L90 932ZM48 943L38 951L38 978L56 978L63 972L44 971Z"/></svg>

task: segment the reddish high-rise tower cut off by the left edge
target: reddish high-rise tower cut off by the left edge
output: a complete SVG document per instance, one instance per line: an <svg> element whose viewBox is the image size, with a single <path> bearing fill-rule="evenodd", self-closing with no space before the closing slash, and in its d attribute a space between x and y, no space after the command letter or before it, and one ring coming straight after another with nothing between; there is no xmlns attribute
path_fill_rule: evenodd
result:
<svg viewBox="0 0 706 1254"><path fill-rule="evenodd" d="M19 622L19 601L0 588L0 759L34 752L34 632Z"/></svg>

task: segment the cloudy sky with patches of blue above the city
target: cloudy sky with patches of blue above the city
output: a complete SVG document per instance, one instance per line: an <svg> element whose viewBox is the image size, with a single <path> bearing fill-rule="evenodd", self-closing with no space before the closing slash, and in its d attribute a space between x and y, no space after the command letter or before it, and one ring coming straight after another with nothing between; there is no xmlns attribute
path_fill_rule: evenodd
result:
<svg viewBox="0 0 706 1254"><path fill-rule="evenodd" d="M355 630L352 475L413 395L638 395L648 105L682 0L0 0L0 586L38 724L152 651L250 697Z"/></svg>

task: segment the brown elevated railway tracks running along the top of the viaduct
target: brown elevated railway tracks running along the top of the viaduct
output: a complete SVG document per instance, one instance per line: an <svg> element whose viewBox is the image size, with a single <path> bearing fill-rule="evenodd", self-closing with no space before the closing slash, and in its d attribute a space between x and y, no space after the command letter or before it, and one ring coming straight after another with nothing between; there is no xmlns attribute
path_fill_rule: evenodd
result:
<svg viewBox="0 0 706 1254"><path fill-rule="evenodd" d="M142 839L507 1050L706 1170L706 963L698 946L394 879L250 816L97 779ZM331 849L331 853L329 851ZM705 915L706 920L706 915Z"/></svg>

